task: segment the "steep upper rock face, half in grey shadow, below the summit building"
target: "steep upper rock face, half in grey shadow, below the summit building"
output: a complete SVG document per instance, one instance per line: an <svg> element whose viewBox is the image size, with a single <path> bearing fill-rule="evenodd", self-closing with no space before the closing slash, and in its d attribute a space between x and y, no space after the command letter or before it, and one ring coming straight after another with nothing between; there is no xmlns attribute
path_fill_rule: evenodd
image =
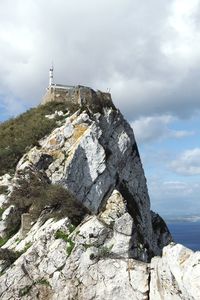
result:
<svg viewBox="0 0 200 300"><path fill-rule="evenodd" d="M101 114L77 111L66 118L40 147L24 155L17 172L25 168L45 173L108 224L117 226L121 216L130 227L125 235L131 257L148 261L171 241L166 226L162 232L153 228L155 217L133 131L113 107Z"/></svg>

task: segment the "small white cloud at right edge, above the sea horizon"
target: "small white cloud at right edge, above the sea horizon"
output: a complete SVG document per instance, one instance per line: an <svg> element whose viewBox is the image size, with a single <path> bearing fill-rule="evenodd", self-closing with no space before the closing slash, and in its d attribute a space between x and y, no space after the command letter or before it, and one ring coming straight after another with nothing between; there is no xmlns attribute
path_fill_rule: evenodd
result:
<svg viewBox="0 0 200 300"><path fill-rule="evenodd" d="M170 168L183 176L200 175L200 148L184 151L170 163Z"/></svg>

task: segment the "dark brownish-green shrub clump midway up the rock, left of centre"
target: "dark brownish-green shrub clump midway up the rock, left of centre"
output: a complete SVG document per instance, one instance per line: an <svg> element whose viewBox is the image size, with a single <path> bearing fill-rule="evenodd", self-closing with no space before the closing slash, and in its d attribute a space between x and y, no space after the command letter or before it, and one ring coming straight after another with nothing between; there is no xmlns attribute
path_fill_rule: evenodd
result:
<svg viewBox="0 0 200 300"><path fill-rule="evenodd" d="M34 221L46 209L43 214L44 221L51 217L57 219L69 217L72 224L77 226L89 213L67 189L50 184L41 172L24 172L20 175L8 203L15 205L19 212L19 222L22 213L30 213ZM74 230L73 225L70 227L71 231Z"/></svg>

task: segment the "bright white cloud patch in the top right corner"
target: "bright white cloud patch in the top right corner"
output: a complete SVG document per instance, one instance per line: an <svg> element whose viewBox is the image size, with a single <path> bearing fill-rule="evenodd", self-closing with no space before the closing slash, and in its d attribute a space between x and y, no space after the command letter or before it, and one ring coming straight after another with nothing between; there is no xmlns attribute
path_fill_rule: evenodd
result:
<svg viewBox="0 0 200 300"><path fill-rule="evenodd" d="M199 0L175 0L171 7L168 24L172 38L167 37L162 46L168 58L180 68L194 66L199 60L200 33L196 22L199 4Z"/></svg>

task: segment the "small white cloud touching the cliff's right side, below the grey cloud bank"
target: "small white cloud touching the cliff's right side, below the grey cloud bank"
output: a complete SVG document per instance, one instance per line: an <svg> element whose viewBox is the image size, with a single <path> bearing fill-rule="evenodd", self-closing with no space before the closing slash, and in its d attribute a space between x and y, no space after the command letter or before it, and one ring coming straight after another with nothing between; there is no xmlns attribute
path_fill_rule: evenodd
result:
<svg viewBox="0 0 200 300"><path fill-rule="evenodd" d="M182 138L193 135L193 131L173 130L170 125L176 119L171 115L141 117L131 123L139 144L166 138Z"/></svg>

